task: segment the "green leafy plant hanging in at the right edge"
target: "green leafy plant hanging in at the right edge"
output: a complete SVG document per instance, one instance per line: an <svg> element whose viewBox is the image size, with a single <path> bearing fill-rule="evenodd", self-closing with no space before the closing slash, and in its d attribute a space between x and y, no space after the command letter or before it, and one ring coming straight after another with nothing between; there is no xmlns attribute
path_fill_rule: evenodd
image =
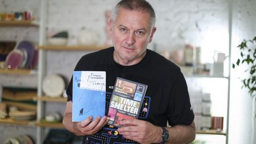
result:
<svg viewBox="0 0 256 144"><path fill-rule="evenodd" d="M240 56L236 63L232 65L239 66L240 64L247 65L245 73L248 73L248 76L242 79L242 88L248 89L251 97L256 96L256 37L252 40L243 40L241 44L238 45L240 50Z"/></svg>

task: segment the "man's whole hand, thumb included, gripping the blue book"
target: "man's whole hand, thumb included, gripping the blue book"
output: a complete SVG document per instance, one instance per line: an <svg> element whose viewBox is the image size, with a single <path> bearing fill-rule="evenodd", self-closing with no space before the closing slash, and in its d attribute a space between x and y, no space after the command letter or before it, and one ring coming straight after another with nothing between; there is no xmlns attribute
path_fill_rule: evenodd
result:
<svg viewBox="0 0 256 144"><path fill-rule="evenodd" d="M92 135L107 124L107 117L97 117L92 121L92 116L81 122L72 122L72 101L66 103L66 110L63 116L63 126L75 135Z"/></svg>

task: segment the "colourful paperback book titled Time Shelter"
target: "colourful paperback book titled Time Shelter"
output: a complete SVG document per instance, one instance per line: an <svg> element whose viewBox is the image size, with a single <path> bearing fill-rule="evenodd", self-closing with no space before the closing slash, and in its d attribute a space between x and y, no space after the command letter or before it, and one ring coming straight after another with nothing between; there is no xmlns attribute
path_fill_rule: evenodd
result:
<svg viewBox="0 0 256 144"><path fill-rule="evenodd" d="M123 119L137 119L148 85L117 77L108 107L108 124L121 127Z"/></svg>

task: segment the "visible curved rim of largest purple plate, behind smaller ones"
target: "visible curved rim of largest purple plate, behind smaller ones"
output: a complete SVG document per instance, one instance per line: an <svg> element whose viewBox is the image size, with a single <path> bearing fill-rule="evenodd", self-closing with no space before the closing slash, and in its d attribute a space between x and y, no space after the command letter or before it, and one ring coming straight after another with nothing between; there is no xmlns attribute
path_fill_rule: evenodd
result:
<svg viewBox="0 0 256 144"><path fill-rule="evenodd" d="M27 62L25 63L25 68L31 68L31 63L34 59L34 44L30 41L21 41L18 44L17 49L25 49L27 50Z"/></svg>

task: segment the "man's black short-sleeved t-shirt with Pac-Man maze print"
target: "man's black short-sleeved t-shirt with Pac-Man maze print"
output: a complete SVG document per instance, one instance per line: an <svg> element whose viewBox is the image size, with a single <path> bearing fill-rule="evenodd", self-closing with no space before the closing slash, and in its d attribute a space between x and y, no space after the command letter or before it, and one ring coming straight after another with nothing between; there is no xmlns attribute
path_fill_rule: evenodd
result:
<svg viewBox="0 0 256 144"><path fill-rule="evenodd" d="M132 66L122 66L114 62L114 47L82 56L74 71L106 72L106 112L116 77L129 79L148 85L140 110L140 120L146 120L156 126L177 124L188 125L194 120L191 110L187 84L180 68L152 50ZM68 101L72 100L72 79L67 88ZM75 96L74 96L75 97ZM98 133L85 136L85 142L94 143L136 143L124 139L117 128L106 125Z"/></svg>

